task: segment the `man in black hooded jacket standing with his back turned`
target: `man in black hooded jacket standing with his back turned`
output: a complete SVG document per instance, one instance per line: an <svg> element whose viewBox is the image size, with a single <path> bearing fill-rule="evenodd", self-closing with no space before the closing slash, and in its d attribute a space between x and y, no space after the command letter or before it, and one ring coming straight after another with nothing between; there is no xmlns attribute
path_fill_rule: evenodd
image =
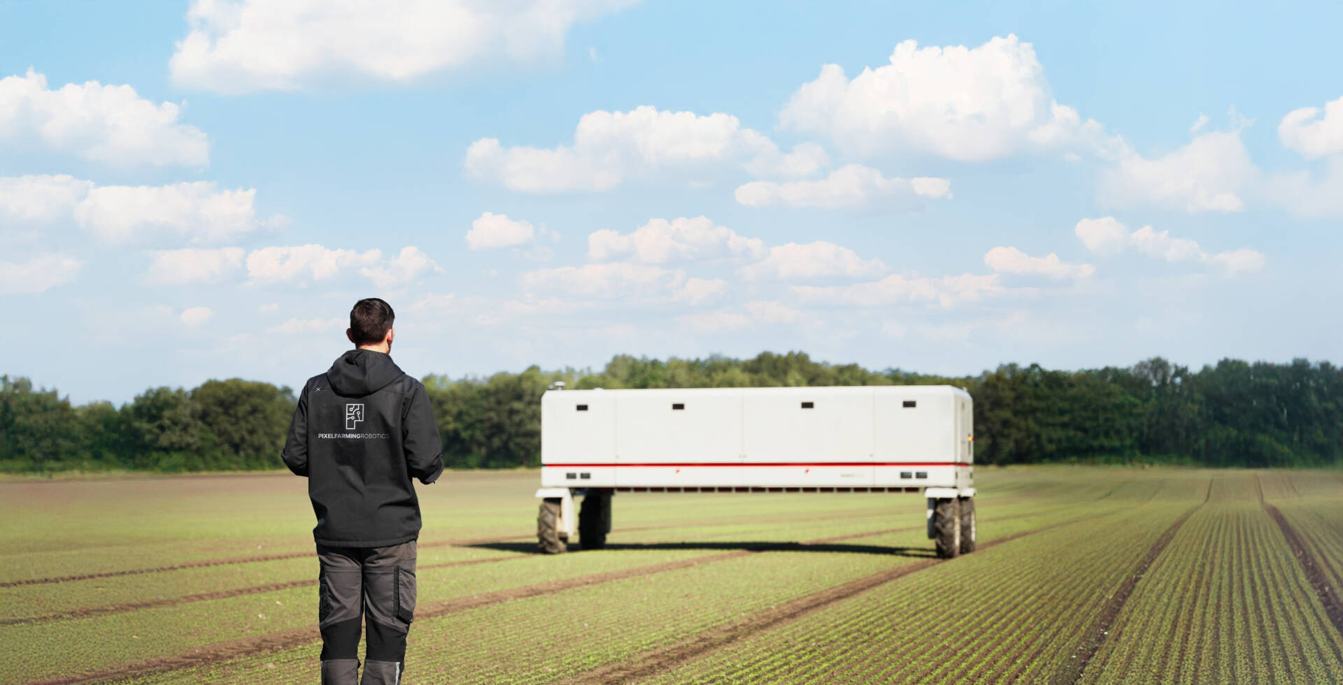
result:
<svg viewBox="0 0 1343 685"><path fill-rule="evenodd" d="M395 685L415 615L419 500L411 478L443 473L424 385L389 356L392 308L360 300L345 336L355 349L308 379L281 457L308 478L321 561L322 684L359 681L360 614L367 615L363 685Z"/></svg>

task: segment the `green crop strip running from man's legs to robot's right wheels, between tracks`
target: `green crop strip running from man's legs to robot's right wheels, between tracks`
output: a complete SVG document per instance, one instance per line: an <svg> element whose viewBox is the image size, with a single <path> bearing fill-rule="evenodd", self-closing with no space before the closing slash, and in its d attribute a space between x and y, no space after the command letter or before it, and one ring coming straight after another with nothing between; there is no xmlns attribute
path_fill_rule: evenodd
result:
<svg viewBox="0 0 1343 685"><path fill-rule="evenodd" d="M850 540L908 545L905 535ZM622 556L603 551L586 556ZM714 552L723 555L725 552ZM573 555L584 556L584 555ZM415 682L547 682L627 658L741 614L916 557L881 553L761 552L418 621L407 654ZM273 659L290 664L316 645L199 673L137 682L250 682ZM313 673L304 677L312 678Z"/></svg>

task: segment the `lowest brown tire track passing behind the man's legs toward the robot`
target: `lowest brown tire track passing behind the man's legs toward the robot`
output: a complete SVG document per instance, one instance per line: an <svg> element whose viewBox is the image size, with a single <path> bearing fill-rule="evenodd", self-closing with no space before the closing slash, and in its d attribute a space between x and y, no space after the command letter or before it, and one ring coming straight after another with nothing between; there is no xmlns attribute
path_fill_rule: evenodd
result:
<svg viewBox="0 0 1343 685"><path fill-rule="evenodd" d="M518 599L528 599L541 595L552 595L556 592L563 592L565 590L576 590L580 587L598 586L603 583L626 580L630 578L639 578L666 571L677 571L681 568L693 568L697 565L727 561L729 559L740 559L760 552L783 552L803 547L839 543L843 540L853 540L858 537L872 537L876 535L886 535L893 532L917 531L921 528L923 528L921 525L917 525L908 528L869 531L864 533L849 533L834 537L822 537L818 540L808 540L804 543L761 544L759 547L752 547L747 549L735 549L732 552L723 552L717 555L705 555L693 559L681 559L677 561L662 561L658 564L649 564L635 568L623 568L619 571L607 571L602 574L590 574L586 576L569 578L564 580L549 580L545 583L537 583L532 586L514 587L509 590L496 590L493 592L482 592L479 595L454 598L442 602L420 604L419 607L416 607L415 614L418 621L439 618L449 614L457 614L461 611L470 611L473 608L502 604L505 602L514 602ZM1019 537L1022 535L1027 533L1018 533L1014 537ZM986 543L983 547L988 547L988 543ZM113 669L86 672L79 676L30 681L26 685L73 685L77 682L101 682L101 681L148 676L152 673L185 670L192 668L218 665L223 661L240 659L240 658L254 657L258 654L301 647L304 645L310 645L320 641L321 641L321 634L317 631L317 626L305 626L305 627L281 630L275 633L266 633L262 635L251 635L247 638L231 639L227 642L216 642L214 645L205 645L201 647L192 647L175 657L153 658Z"/></svg>

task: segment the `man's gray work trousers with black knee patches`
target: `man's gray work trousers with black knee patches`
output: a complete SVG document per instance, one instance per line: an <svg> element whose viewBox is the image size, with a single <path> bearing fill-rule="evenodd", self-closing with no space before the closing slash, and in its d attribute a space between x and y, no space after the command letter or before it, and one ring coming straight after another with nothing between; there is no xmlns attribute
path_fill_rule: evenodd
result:
<svg viewBox="0 0 1343 685"><path fill-rule="evenodd" d="M391 547L317 545L322 685L398 685L415 618L415 540ZM359 634L367 619L364 680Z"/></svg>

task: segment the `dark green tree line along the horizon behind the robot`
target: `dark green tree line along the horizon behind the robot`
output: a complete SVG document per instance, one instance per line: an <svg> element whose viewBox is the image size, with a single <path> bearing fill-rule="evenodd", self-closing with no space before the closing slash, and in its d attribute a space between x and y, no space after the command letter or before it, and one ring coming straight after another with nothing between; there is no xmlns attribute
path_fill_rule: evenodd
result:
<svg viewBox="0 0 1343 685"><path fill-rule="evenodd" d="M1343 369L1222 360L1198 371L1155 357L1127 368L1049 371L1005 364L978 376L826 364L806 353L737 360L616 356L592 369L423 379L455 469L536 466L540 399L569 388L804 385L963 387L974 396L978 463L1151 462L1206 466L1343 463ZM0 471L281 469L295 396L240 379L152 388L121 407L74 406L28 379L0 376Z"/></svg>

